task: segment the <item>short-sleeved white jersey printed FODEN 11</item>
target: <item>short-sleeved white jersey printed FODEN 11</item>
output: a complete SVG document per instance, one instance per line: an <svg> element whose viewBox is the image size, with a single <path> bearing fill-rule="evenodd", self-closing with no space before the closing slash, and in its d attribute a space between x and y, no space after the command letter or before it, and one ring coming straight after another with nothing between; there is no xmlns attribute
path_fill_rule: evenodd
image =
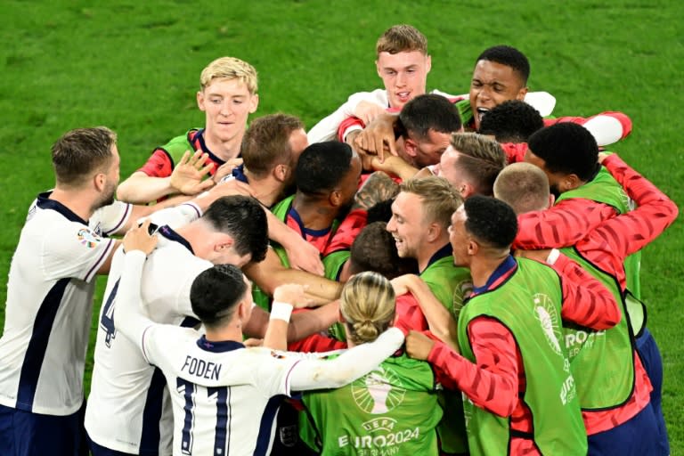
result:
<svg viewBox="0 0 684 456"><path fill-rule="evenodd" d="M142 347L167 377L175 456L268 454L297 358L169 325L148 328Z"/></svg>

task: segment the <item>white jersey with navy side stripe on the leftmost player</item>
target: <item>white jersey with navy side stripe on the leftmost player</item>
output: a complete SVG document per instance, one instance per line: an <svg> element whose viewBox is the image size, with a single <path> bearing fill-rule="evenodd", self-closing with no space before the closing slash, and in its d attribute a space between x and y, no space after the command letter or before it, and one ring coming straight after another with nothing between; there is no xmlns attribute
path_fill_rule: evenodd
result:
<svg viewBox="0 0 684 456"><path fill-rule="evenodd" d="M132 207L115 202L85 221L49 195L29 208L12 256L0 403L64 416L83 403L93 279L115 246L106 236L126 224Z"/></svg>

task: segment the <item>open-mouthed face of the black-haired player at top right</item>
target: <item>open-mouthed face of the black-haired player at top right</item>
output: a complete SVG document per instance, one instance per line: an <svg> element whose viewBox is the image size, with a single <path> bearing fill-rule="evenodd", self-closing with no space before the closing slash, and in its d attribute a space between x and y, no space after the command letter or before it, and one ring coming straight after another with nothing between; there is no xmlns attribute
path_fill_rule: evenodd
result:
<svg viewBox="0 0 684 456"><path fill-rule="evenodd" d="M508 100L524 100L525 94L525 82L514 69L495 61L477 61L470 81L470 109L476 130L488 110Z"/></svg>

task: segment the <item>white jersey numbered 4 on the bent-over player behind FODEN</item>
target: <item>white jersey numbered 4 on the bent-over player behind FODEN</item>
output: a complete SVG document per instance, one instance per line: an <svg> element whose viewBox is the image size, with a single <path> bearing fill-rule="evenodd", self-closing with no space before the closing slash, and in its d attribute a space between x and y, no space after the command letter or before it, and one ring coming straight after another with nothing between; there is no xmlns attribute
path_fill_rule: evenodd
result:
<svg viewBox="0 0 684 456"><path fill-rule="evenodd" d="M151 366L138 346L116 327L118 281L124 255L119 249L111 265L94 354L93 380L85 409L85 429L96 444L118 452L137 453L159 445L167 454L172 437L172 416L165 379ZM172 325L198 323L192 317L190 288L202 271L212 267L194 256L190 244L162 226L158 247L142 272L142 301L154 322ZM161 420L161 422L160 422Z"/></svg>

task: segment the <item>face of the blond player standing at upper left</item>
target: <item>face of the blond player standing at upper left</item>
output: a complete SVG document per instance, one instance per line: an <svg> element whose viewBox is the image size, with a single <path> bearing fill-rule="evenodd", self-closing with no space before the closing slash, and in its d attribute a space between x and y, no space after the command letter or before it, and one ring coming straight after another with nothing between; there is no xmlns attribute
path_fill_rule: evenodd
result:
<svg viewBox="0 0 684 456"><path fill-rule="evenodd" d="M240 79L213 79L197 93L199 110L206 113L208 142L242 141L248 115L256 111L258 103L258 95L251 94Z"/></svg>

